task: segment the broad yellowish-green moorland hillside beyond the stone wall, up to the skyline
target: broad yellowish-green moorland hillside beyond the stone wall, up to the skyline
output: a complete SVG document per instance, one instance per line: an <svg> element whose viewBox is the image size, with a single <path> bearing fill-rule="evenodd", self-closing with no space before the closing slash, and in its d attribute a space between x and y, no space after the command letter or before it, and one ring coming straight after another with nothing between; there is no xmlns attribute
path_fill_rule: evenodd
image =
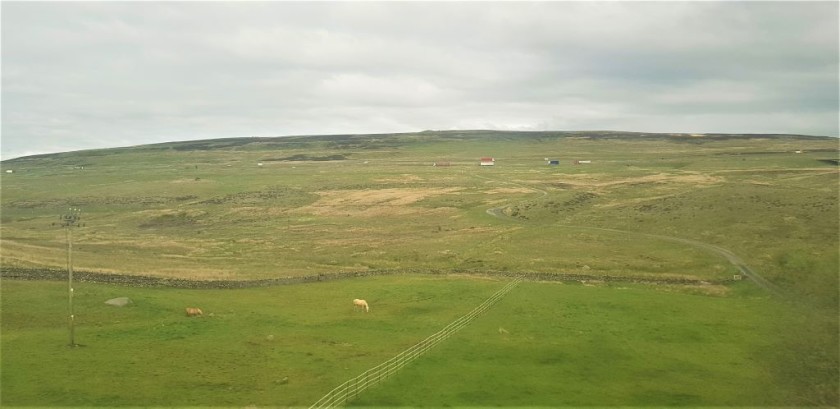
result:
<svg viewBox="0 0 840 409"><path fill-rule="evenodd" d="M477 166L481 156L497 166ZM826 289L816 295L836 302L838 172L820 162L836 157L826 138L493 132L46 155L3 162L16 172L2 174L0 249L5 266L61 268L65 235L51 224L76 206L86 223L74 233L80 270L251 279L588 267L731 277L714 255L574 227L593 226L729 248L768 278L809 296ZM489 217L491 208L508 217Z"/></svg>

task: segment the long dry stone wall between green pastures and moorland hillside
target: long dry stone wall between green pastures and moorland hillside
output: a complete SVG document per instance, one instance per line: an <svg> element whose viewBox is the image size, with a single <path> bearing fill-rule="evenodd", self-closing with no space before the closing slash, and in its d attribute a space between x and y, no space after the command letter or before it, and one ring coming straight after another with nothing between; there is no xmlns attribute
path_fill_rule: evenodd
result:
<svg viewBox="0 0 840 409"><path fill-rule="evenodd" d="M346 271L335 273L322 273L307 276L278 277L258 280L190 280L183 278L155 277L147 275L136 275L130 273L99 273L91 271L73 270L73 278L77 282L116 284L129 287L148 288L186 288L186 289L237 289L273 287L281 285L294 285L304 283L317 283L321 281L346 280L360 277L392 276L392 275L467 275L490 278L519 278L524 281L557 281L557 282L583 282L603 281L610 283L639 283L639 284L673 284L673 285L698 285L698 284L726 284L733 280L728 279L701 279L691 277L654 277L654 276L633 276L633 275L599 275L579 274L562 272L537 272L537 271L494 271L494 270L426 270L426 269L400 269L400 270L369 270L369 271ZM17 267L0 267L0 279L21 280L21 281L66 281L67 270L62 269L29 269Z"/></svg>

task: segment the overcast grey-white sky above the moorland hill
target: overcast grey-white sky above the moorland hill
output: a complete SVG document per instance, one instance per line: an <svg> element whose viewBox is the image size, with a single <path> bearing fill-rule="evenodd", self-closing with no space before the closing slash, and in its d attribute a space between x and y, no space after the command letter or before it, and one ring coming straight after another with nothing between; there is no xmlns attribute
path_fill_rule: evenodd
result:
<svg viewBox="0 0 840 409"><path fill-rule="evenodd" d="M4 159L426 129L838 136L826 2L2 2Z"/></svg>

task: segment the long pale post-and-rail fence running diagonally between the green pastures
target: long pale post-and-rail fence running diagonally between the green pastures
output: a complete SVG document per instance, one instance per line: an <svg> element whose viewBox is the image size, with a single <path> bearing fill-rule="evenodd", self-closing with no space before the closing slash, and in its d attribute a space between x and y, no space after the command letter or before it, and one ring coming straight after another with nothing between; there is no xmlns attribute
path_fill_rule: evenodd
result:
<svg viewBox="0 0 840 409"><path fill-rule="evenodd" d="M434 348L437 344L449 338L450 336L452 336L452 334L458 332L458 330L460 330L461 328L465 327L479 314L490 308L493 304L499 301L499 299L501 299L507 293L513 290L513 288L516 287L520 282L522 282L521 278L515 278L513 281L505 285L501 290L491 295L490 298L485 300L483 303L479 304L478 307L475 307L472 311L468 312L464 316L456 319L455 321L452 321L452 323L445 326L442 330L430 335L428 338L420 341L411 348L400 352L393 358L371 369L368 369L361 375L356 376L355 378L350 379L349 381L337 386L335 389L331 390L329 393L324 395L324 397L315 402L315 404L310 406L310 409L331 408L341 405L342 403L347 402L349 399L357 396L365 389L389 378L391 375L395 374L404 366L419 358L420 356L428 352L430 349Z"/></svg>

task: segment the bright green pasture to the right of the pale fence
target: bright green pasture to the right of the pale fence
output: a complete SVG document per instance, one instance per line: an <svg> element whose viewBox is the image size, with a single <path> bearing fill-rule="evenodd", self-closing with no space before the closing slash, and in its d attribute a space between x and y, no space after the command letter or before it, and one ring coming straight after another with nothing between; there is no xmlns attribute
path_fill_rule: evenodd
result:
<svg viewBox="0 0 840 409"><path fill-rule="evenodd" d="M807 405L768 299L523 283L355 406ZM792 358L792 357L788 357Z"/></svg>

